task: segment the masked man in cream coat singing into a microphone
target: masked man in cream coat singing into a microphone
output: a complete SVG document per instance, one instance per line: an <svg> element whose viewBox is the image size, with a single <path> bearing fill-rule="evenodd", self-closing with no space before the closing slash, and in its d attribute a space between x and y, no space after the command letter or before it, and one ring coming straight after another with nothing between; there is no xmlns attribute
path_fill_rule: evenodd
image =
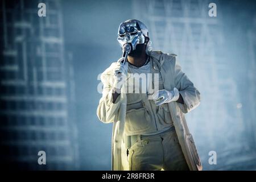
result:
<svg viewBox="0 0 256 182"><path fill-rule="evenodd" d="M176 55L151 51L147 27L135 19L120 24L118 42L126 56L101 74L97 108L100 121L113 123L112 169L201 170L184 117L200 104L200 93ZM154 79L136 81L143 74Z"/></svg>

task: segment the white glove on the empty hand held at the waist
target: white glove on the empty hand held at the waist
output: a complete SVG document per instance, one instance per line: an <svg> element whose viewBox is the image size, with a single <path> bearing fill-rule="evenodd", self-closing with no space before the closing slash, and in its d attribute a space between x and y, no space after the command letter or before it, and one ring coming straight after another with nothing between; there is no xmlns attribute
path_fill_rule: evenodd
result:
<svg viewBox="0 0 256 182"><path fill-rule="evenodd" d="M168 102L177 101L180 97L179 90L158 90L154 92L152 98L157 106L166 104Z"/></svg>

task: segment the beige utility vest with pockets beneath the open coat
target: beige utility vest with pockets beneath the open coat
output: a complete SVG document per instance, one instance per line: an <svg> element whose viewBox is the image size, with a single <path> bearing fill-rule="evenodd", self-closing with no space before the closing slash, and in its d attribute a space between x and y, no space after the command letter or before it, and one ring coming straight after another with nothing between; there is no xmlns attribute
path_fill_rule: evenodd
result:
<svg viewBox="0 0 256 182"><path fill-rule="evenodd" d="M128 67L126 86L129 92L126 93L126 135L151 135L161 133L161 131L173 126L168 104L156 106L153 100L148 99L149 96L152 95L150 91L157 88L156 84L158 84L158 90L164 89L163 80L159 70L153 68L151 57L148 59L150 59L149 63L143 67L134 68L130 67L130 65ZM137 79L136 82L134 73L137 73L137 76L141 76L140 74L144 73L147 79L146 85L143 84L143 81L145 81L143 80L145 75L141 76L142 79L139 81ZM148 73L151 73L151 75ZM158 76L155 74L158 74ZM155 79L158 80L155 81ZM145 86L147 89L145 89Z"/></svg>

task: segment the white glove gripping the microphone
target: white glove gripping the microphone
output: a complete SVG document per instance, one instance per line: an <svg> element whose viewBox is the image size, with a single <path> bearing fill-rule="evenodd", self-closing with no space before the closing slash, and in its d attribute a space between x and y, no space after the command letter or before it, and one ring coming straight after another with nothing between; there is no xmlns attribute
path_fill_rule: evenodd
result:
<svg viewBox="0 0 256 182"><path fill-rule="evenodd" d="M117 61L117 64L115 64L115 67L113 68L113 75L114 75L113 87L115 89L121 89L123 82L126 80L128 62L126 61L125 64L123 64L122 61L124 59L125 57L121 57Z"/></svg>

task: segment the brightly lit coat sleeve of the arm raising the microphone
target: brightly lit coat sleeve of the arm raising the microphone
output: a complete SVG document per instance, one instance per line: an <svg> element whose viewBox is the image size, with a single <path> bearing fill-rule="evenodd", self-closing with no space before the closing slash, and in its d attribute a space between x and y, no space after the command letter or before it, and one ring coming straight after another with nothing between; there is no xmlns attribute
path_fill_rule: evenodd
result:
<svg viewBox="0 0 256 182"><path fill-rule="evenodd" d="M103 92L100 102L97 107L97 116L101 122L112 123L118 116L118 110L120 107L120 96L118 96L115 103L112 98L112 87L109 84L110 77L101 75L101 81L103 83Z"/></svg>

